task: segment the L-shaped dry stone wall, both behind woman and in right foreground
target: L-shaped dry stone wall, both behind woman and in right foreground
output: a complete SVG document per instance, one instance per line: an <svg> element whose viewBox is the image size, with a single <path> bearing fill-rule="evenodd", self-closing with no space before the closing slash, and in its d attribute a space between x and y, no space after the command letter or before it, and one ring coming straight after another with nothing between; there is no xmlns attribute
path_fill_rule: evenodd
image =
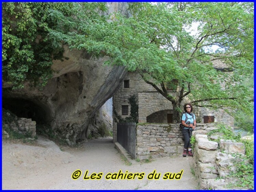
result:
<svg viewBox="0 0 256 192"><path fill-rule="evenodd" d="M224 141L219 138L221 134L211 136L211 140L216 141L210 141L207 133L216 129L216 125L198 123L197 130L192 132L196 139L193 166L201 189L227 189L230 183L236 182L237 178L230 177L231 171L236 169L232 153L245 154L243 143ZM179 124L137 125L136 153L140 160L181 155L183 146Z"/></svg>

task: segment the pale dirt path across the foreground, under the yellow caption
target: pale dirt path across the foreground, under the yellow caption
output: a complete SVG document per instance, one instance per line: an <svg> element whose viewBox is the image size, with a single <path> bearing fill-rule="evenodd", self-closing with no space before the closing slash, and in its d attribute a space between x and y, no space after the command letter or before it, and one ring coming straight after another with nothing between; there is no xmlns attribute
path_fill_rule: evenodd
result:
<svg viewBox="0 0 256 192"><path fill-rule="evenodd" d="M38 146L2 142L2 189L138 189L138 190L191 190L198 189L190 172L191 157L158 158L149 163L134 162L126 165L114 148L111 138L93 139L83 147L74 149L59 147L48 139L39 137ZM81 170L81 176L73 180L72 173ZM86 179L93 172L102 172L101 179ZM106 179L108 173L145 173L143 179ZM147 175L156 170L158 180ZM164 180L165 173L180 173L181 179ZM97 175L100 177L100 175ZM97 177L96 176L96 177Z"/></svg>

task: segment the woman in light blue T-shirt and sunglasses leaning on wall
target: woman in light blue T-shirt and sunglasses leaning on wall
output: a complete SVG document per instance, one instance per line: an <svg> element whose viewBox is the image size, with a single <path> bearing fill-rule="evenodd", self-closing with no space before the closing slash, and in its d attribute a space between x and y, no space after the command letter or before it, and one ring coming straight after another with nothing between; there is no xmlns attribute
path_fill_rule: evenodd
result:
<svg viewBox="0 0 256 192"><path fill-rule="evenodd" d="M190 138L192 131L196 128L196 117L195 114L192 113L193 107L190 103L184 105L184 111L181 117L182 134L185 140L182 156L186 157L187 155L193 156Z"/></svg>

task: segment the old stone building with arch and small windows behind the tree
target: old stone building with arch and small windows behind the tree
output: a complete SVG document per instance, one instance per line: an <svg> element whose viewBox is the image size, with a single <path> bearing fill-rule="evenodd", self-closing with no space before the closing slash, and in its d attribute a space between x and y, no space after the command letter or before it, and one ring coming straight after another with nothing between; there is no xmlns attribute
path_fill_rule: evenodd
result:
<svg viewBox="0 0 256 192"><path fill-rule="evenodd" d="M223 72L232 72L221 62L214 62L214 67ZM224 86L224 85L223 85ZM171 94L175 91L170 90ZM139 123L173 123L172 103L155 90L152 85L144 82L140 74L128 72L123 85L118 89L113 97L113 136L116 141L116 117L126 118L131 115L131 104L129 99L135 95L136 104L138 104L138 122ZM184 99L182 105L189 102ZM194 107L193 111L199 123L225 122L233 127L233 118L221 110L209 110L207 108ZM117 120L118 121L118 120Z"/></svg>

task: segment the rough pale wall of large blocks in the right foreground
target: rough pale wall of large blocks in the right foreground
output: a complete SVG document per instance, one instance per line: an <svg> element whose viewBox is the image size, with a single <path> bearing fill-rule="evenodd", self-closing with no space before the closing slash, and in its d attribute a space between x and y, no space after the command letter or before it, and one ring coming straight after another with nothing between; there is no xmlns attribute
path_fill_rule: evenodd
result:
<svg viewBox="0 0 256 192"><path fill-rule="evenodd" d="M227 185L236 181L231 178L230 172L236 168L233 166L232 153L245 153L243 143L224 141L220 143L209 141L207 133L214 127L193 132L196 138L194 147L194 170L201 189L227 189ZM219 136L211 136L217 139ZM219 146L219 147L218 147ZM221 179L217 179L221 177Z"/></svg>

